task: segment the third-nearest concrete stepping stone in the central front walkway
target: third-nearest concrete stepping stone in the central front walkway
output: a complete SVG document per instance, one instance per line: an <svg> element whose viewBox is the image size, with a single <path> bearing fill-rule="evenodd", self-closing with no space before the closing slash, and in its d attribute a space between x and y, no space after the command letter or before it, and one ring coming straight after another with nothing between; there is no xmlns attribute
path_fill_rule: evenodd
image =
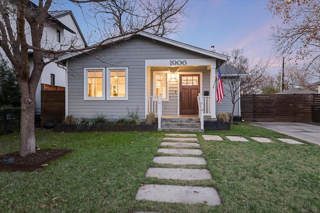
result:
<svg viewBox="0 0 320 213"><path fill-rule="evenodd" d="M169 157L159 156L154 157L153 162L157 164L174 164L174 165L205 165L206 161L200 157Z"/></svg>

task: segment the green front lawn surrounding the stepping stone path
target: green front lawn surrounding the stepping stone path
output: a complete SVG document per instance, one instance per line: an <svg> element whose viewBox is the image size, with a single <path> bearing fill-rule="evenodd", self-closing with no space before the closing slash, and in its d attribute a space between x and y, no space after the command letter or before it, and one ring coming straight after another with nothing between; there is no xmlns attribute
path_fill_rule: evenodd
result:
<svg viewBox="0 0 320 213"><path fill-rule="evenodd" d="M232 125L231 131L205 133L220 135L221 142L205 141L198 134L207 160L207 165L200 167L210 170L212 180L145 178L147 168L159 166L152 159L162 155L156 150L164 134L36 131L41 149L73 152L35 172L0 172L0 212L320 212L319 146L282 143L276 138L290 137L240 123ZM243 136L249 142L230 142L226 135ZM251 136L267 137L274 143L258 143ZM18 134L0 136L0 155L16 151L18 143ZM140 184L215 187L223 204L208 207L135 201Z"/></svg>

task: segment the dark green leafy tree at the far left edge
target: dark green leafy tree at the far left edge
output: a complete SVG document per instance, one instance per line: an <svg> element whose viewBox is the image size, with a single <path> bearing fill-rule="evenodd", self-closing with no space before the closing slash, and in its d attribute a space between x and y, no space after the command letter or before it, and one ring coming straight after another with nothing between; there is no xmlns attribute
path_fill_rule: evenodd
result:
<svg viewBox="0 0 320 213"><path fill-rule="evenodd" d="M20 106L21 92L12 67L0 54L0 106Z"/></svg>

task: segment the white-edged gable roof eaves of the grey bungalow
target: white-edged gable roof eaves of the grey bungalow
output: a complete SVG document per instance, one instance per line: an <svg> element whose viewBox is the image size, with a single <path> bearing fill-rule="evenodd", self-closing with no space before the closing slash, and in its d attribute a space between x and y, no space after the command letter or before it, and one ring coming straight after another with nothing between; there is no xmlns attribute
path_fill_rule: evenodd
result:
<svg viewBox="0 0 320 213"><path fill-rule="evenodd" d="M206 55L206 56L209 56L209 57L216 58L216 64L218 64L218 65L223 64L227 60L227 56L226 55L222 55L222 54L210 51L210 50L201 49L201 48L198 48L198 47L195 47L195 46L191 46L191 45L188 45L188 44L185 44L185 43L181 43L181 42L169 39L169 38L164 38L164 37L160 37L160 36L157 36L157 35L153 35L151 33L143 32L143 31L139 31L139 32L137 32L135 34L128 34L128 35L119 36L119 37L117 37L115 39L114 38L113 39L108 39L104 43L116 43L116 42L119 42L119 41L122 41L122 40L128 40L128 39L134 37L135 35L146 37L146 38L150 38L152 40L156 40L156 41L159 41L159 42L170 44L170 45L173 45L175 47L179 47L179 48L182 48L182 49L185 49L185 50L193 51L193 52L200 53L200 54L203 54L203 55ZM88 52L88 51L91 51L91 50L86 50L86 51L83 51L83 52ZM74 57L76 55L83 54L83 52L76 52L76 53L73 52L73 53L68 53L68 54L62 55L59 58L59 61L64 61L64 60L70 59L70 58L72 58L72 57Z"/></svg>

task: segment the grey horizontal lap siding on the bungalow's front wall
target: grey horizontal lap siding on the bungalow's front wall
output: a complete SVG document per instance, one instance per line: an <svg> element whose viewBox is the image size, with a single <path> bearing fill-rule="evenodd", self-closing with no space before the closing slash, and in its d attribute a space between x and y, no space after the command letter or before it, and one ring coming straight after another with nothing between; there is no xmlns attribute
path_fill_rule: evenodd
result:
<svg viewBox="0 0 320 213"><path fill-rule="evenodd" d="M149 39L135 37L114 47L102 48L91 55L77 56L76 60L68 61L68 115L74 118L91 117L96 113L104 113L109 118L119 118L127 115L127 109L138 107L140 119L145 118L145 82L152 82L153 73L147 74L150 79L145 81L145 60L152 59L191 59L203 58L170 45L162 45ZM101 62L105 61L105 63ZM84 67L128 67L128 100L83 100L83 68ZM152 83L150 83L152 84ZM177 84L169 84L169 99L171 104L164 104L170 112L177 113ZM152 85L150 86L152 89ZM108 88L106 88L106 94ZM152 94L152 91L151 91ZM174 103L174 104L173 104Z"/></svg>

